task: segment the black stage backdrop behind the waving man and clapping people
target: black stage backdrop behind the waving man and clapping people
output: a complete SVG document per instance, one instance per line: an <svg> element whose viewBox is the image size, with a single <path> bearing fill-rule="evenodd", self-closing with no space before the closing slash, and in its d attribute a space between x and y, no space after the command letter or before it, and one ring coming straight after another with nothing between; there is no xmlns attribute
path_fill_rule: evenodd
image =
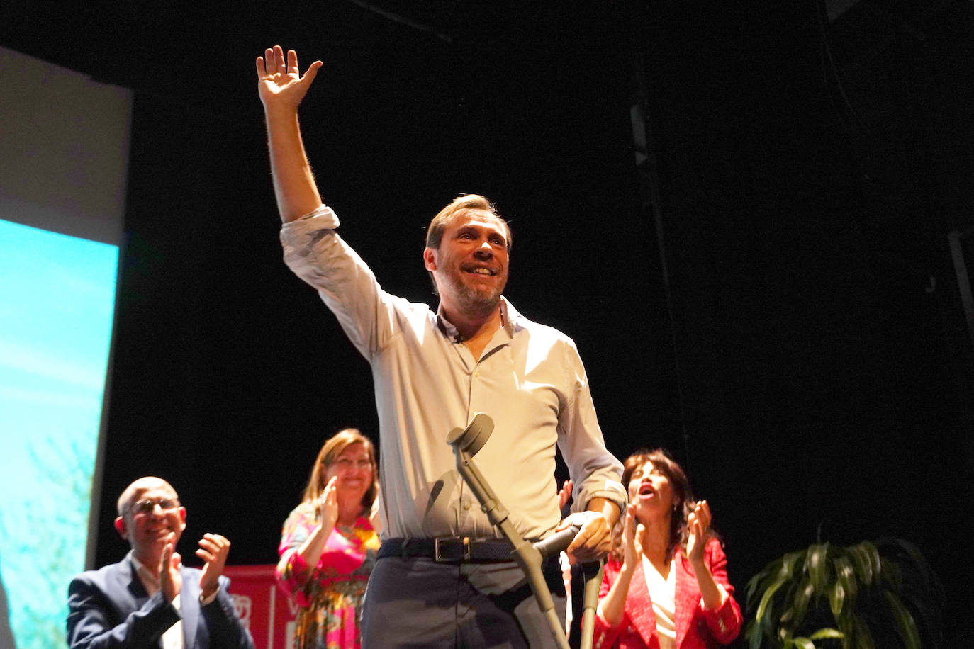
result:
<svg viewBox="0 0 974 649"><path fill-rule="evenodd" d="M19 10L4 46L135 90L103 509L158 474L187 538L272 562L321 441L376 435L365 362L281 263L253 72L280 42L324 61L306 144L384 287L432 302L423 226L494 198L511 302L576 340L612 451L689 462L738 588L819 535L901 536L969 636L972 349L947 234L974 225L971 3L864 0L831 24L779 5L433 3L425 31L357 3ZM99 564L124 551L100 533Z"/></svg>

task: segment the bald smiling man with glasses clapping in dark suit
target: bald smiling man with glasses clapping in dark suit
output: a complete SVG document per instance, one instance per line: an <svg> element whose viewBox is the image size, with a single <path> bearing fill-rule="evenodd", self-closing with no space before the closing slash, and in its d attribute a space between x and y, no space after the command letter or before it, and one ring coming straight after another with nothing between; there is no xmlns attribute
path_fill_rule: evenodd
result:
<svg viewBox="0 0 974 649"><path fill-rule="evenodd" d="M115 529L131 552L71 581L68 645L253 649L222 576L230 541L206 533L196 551L203 569L182 565L175 547L186 528L186 508L161 478L139 478L126 487L118 513Z"/></svg>

